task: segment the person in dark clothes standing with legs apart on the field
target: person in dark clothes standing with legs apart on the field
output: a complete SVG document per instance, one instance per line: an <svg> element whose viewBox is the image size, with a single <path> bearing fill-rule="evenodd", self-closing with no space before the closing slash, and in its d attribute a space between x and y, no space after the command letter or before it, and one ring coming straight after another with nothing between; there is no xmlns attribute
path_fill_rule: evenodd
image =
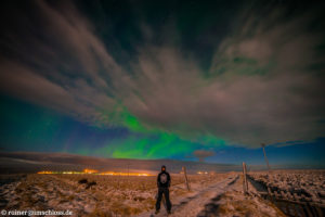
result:
<svg viewBox="0 0 325 217"><path fill-rule="evenodd" d="M158 197L156 202L156 214L160 210L160 203L162 199L162 194L165 195L167 213L170 214L171 212L171 203L169 200L169 187L170 187L170 175L166 171L166 166L161 166L161 171L158 174L157 177L157 187L158 187Z"/></svg>

